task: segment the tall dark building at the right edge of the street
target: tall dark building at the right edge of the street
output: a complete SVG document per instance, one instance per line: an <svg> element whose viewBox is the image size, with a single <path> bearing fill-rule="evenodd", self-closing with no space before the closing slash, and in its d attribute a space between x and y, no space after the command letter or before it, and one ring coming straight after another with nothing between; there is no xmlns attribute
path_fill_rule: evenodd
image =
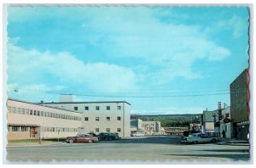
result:
<svg viewBox="0 0 256 168"><path fill-rule="evenodd" d="M233 135L238 132L238 139L247 139L249 132L249 74L243 70L230 84L230 115L233 123Z"/></svg>

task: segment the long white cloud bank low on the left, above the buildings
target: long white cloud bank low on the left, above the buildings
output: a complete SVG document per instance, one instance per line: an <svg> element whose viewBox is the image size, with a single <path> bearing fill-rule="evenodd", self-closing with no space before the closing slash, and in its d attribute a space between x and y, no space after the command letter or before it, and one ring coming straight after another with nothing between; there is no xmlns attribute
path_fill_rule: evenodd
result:
<svg viewBox="0 0 256 168"><path fill-rule="evenodd" d="M9 43L8 59L8 75L15 81L56 82L70 84L71 87L82 87L81 90L83 87L89 87L97 92L137 89L136 74L129 68L102 62L84 63L70 53L41 53ZM48 79L47 74L51 78ZM48 90L44 84L27 87Z"/></svg>

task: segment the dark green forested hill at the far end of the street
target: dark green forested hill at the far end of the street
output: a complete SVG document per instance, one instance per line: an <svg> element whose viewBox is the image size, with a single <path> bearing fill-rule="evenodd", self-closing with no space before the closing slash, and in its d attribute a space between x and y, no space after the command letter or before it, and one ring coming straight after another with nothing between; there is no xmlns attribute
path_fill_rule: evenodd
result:
<svg viewBox="0 0 256 168"><path fill-rule="evenodd" d="M161 126L189 126L190 123L201 122L201 115L131 115L131 120L160 121Z"/></svg>

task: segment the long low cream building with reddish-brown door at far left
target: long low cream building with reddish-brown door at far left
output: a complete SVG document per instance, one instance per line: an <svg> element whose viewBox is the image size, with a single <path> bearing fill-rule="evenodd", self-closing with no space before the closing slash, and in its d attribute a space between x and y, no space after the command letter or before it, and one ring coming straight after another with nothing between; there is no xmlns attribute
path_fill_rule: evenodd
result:
<svg viewBox="0 0 256 168"><path fill-rule="evenodd" d="M9 98L7 100L10 139L68 137L78 133L82 113L47 107Z"/></svg>

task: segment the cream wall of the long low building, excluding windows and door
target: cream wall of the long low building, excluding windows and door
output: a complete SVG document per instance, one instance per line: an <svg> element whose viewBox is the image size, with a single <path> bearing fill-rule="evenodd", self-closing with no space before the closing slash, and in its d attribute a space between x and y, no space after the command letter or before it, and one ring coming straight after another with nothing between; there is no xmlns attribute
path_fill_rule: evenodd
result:
<svg viewBox="0 0 256 168"><path fill-rule="evenodd" d="M7 113L7 120L9 126L37 126L38 128L40 128L38 129L40 132L38 132L37 136L40 136L41 138L74 136L78 133L75 132L75 129L79 129L79 127L81 127L81 120L72 120L72 117L77 117L77 119L80 119L81 113L61 109L53 109L37 104L28 104L15 100L8 100L7 106L9 109ZM13 113L14 108L15 113ZM32 115L30 115L31 110ZM36 111L37 115L34 115L34 111ZM48 117L46 113L66 115L67 117L69 117L70 120L53 117L51 118L50 116ZM47 131L47 129L51 132ZM61 132L59 132L59 134L57 132L57 129L61 129ZM62 129L64 130L62 131ZM53 132L54 130L55 132ZM27 132L8 132L7 137L9 139L14 139L17 138L17 134L20 134L20 138L27 137ZM25 137L22 137L22 135L24 135Z"/></svg>

